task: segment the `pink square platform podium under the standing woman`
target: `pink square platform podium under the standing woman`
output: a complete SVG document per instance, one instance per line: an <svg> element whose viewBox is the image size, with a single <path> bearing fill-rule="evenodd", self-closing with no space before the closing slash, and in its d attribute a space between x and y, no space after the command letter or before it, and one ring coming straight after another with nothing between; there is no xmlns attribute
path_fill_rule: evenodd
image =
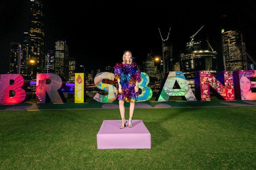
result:
<svg viewBox="0 0 256 170"><path fill-rule="evenodd" d="M142 120L132 120L132 128L120 129L121 120L103 121L97 134L98 149L150 149L151 135Z"/></svg>

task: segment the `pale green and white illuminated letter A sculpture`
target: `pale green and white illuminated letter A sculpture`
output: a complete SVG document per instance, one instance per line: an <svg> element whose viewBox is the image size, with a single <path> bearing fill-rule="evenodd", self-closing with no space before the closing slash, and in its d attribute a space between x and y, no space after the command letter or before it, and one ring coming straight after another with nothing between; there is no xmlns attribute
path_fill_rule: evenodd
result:
<svg viewBox="0 0 256 170"><path fill-rule="evenodd" d="M175 85L175 89L173 89ZM181 71L165 74L163 83L156 96L156 101L168 101L170 96L181 96L186 101L196 101L188 82Z"/></svg>

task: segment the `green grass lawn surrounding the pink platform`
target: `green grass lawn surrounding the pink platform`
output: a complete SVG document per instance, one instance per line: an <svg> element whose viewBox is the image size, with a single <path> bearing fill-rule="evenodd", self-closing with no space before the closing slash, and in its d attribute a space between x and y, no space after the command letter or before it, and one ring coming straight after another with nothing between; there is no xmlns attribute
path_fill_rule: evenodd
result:
<svg viewBox="0 0 256 170"><path fill-rule="evenodd" d="M256 169L256 107L135 109L152 149L97 149L103 120L117 119L118 109L0 111L0 169Z"/></svg>

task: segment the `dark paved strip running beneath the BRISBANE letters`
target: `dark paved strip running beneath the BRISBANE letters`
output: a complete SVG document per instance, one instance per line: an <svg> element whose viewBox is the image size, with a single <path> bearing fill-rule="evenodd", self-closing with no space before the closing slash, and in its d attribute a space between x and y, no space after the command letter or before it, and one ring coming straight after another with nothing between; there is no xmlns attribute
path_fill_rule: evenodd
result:
<svg viewBox="0 0 256 170"><path fill-rule="evenodd" d="M167 101L167 102L156 102L156 101L145 101L135 103L135 108L202 108L202 107L253 107L256 106L256 101L223 101L223 100L212 100L212 101ZM125 102L125 108L129 108L130 104ZM67 102L64 104L28 104L21 103L15 105L3 105L0 106L0 111L39 111L39 110L71 110L71 109L119 109L118 101L111 103L100 103L97 101L89 101L86 103L78 104L74 102Z"/></svg>

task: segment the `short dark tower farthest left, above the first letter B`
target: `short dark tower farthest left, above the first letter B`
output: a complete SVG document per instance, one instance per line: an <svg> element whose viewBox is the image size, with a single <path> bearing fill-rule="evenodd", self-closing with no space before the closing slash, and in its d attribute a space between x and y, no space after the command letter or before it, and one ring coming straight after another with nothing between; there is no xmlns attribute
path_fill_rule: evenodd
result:
<svg viewBox="0 0 256 170"><path fill-rule="evenodd" d="M21 45L19 43L11 43L10 52L10 74L20 74L21 66Z"/></svg>

